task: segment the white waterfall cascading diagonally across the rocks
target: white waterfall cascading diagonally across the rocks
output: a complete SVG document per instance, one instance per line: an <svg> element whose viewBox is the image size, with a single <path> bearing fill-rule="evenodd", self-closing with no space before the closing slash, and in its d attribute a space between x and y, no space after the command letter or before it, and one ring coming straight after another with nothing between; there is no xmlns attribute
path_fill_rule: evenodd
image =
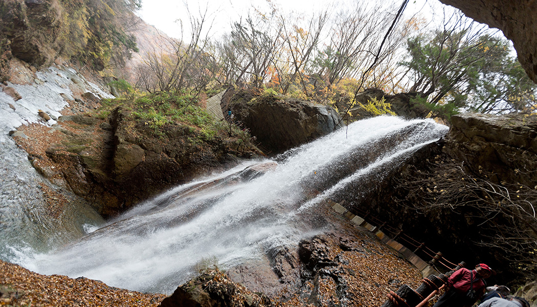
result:
<svg viewBox="0 0 537 307"><path fill-rule="evenodd" d="M275 169L253 180L241 181L241 170L269 161L248 161L171 189L78 242L47 253L21 253L17 262L42 274L170 293L204 258L233 267L321 231L323 225L309 215L321 199L355 180L379 180L446 132L432 120L355 122L277 157Z"/></svg>

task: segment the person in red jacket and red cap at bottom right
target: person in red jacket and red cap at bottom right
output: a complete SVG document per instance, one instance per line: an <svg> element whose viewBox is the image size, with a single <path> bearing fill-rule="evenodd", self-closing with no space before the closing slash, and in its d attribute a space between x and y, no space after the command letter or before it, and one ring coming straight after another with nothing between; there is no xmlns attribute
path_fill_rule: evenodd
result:
<svg viewBox="0 0 537 307"><path fill-rule="evenodd" d="M470 307L485 292L484 279L492 275L492 270L484 263L475 266L475 270L460 268L447 280L447 290L433 307ZM473 291L473 296L468 293Z"/></svg>

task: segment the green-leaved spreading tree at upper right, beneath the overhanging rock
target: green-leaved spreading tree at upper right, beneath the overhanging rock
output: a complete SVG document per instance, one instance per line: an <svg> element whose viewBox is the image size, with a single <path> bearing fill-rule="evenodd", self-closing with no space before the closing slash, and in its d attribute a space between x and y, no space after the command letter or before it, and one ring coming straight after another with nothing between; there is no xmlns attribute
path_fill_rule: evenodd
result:
<svg viewBox="0 0 537 307"><path fill-rule="evenodd" d="M510 50L506 39L454 14L443 27L408 39L409 60L401 64L417 102L434 115L523 111L534 103L535 84Z"/></svg>

